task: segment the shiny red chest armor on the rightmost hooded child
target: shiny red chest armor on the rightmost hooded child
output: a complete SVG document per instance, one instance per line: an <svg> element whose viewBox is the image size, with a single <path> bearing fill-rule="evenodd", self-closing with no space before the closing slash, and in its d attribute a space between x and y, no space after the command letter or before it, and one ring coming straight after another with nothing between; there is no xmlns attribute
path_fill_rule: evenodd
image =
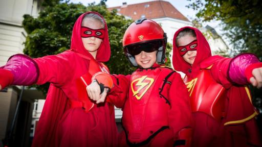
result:
<svg viewBox="0 0 262 147"><path fill-rule="evenodd" d="M220 121L225 105L225 88L216 83L208 69L202 70L199 75L184 82L190 94L192 112L204 112Z"/></svg>

